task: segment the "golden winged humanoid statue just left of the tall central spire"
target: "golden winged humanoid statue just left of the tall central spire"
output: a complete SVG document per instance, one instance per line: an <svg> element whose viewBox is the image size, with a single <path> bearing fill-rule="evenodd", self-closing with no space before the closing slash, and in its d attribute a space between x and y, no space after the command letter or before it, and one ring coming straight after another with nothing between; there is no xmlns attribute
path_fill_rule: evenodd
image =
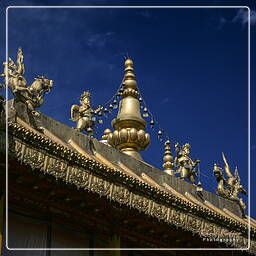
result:
<svg viewBox="0 0 256 256"><path fill-rule="evenodd" d="M78 131L85 130L90 136L93 136L93 115L97 115L102 109L99 106L97 109L93 110L91 108L91 94L90 92L84 92L80 97L80 104L72 105L71 107L71 121L77 122L76 128Z"/></svg>

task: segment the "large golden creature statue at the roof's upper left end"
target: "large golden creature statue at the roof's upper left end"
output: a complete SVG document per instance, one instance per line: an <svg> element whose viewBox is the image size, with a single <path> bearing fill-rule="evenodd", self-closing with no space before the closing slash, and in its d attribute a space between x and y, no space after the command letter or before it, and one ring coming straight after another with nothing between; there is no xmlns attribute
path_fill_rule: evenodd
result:
<svg viewBox="0 0 256 256"><path fill-rule="evenodd" d="M38 115L39 112L35 108L43 104L44 94L51 90L53 81L38 76L31 86L27 86L23 76L25 73L23 59L22 49L19 48L16 63L11 58L8 63L4 62L4 74L1 76L5 79L5 86L11 89L15 100L24 102L32 114Z"/></svg>

